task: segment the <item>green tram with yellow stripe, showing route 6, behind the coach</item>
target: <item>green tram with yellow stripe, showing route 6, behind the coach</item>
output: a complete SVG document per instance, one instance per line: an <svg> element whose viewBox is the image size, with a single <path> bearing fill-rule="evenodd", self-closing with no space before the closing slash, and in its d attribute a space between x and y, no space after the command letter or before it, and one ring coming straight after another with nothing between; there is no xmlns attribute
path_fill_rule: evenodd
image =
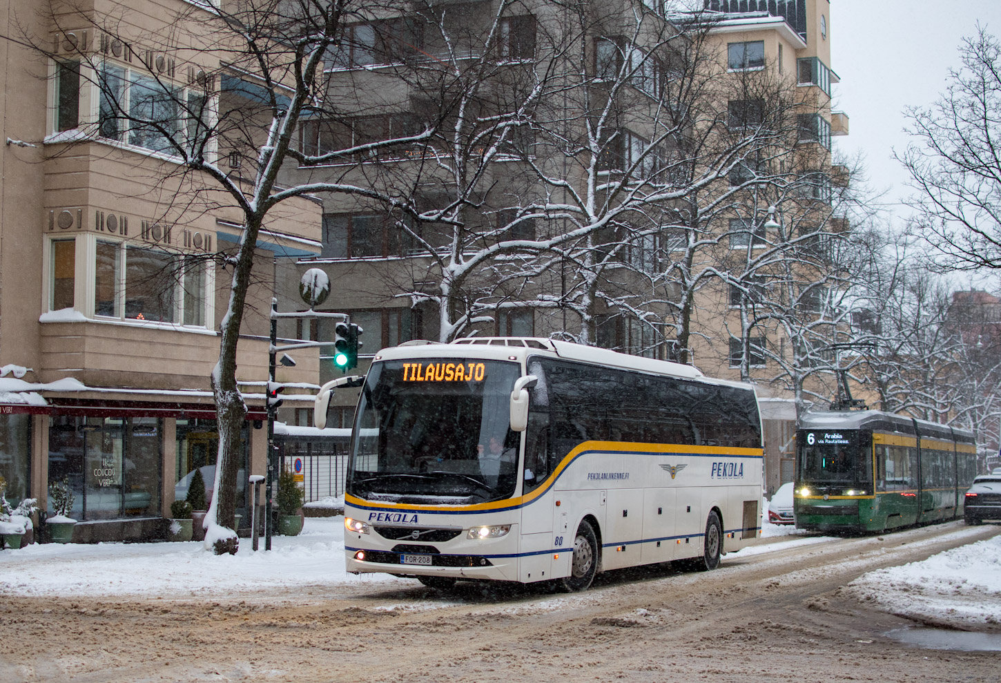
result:
<svg viewBox="0 0 1001 683"><path fill-rule="evenodd" d="M796 526L870 532L963 516L973 433L878 411L808 413L796 432Z"/></svg>

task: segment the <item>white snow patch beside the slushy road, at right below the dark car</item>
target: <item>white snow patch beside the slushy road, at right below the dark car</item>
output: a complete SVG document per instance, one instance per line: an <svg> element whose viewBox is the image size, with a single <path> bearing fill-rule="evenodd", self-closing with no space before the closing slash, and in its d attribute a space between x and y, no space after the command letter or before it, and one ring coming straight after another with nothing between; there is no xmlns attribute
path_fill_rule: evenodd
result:
<svg viewBox="0 0 1001 683"><path fill-rule="evenodd" d="M864 574L849 594L888 612L960 628L1001 627L1001 536Z"/></svg>

